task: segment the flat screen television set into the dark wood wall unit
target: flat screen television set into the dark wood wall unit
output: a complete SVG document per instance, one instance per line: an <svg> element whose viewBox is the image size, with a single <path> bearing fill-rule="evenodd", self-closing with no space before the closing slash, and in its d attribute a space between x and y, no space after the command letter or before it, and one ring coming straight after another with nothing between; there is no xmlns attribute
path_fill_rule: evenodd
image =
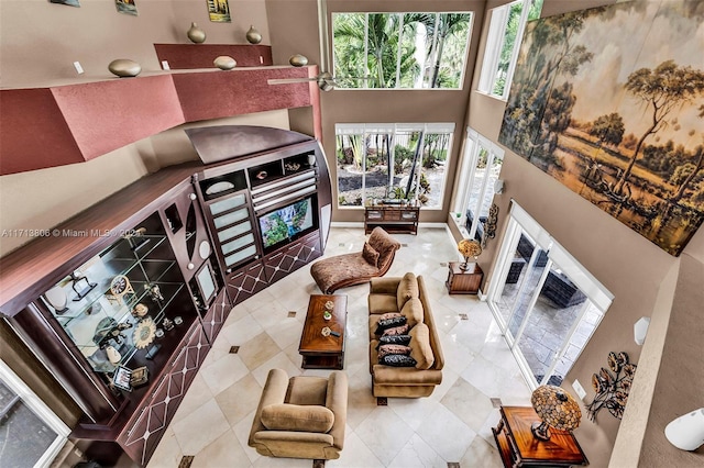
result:
<svg viewBox="0 0 704 468"><path fill-rule="evenodd" d="M258 219L264 250L271 252L318 227L315 197L270 211Z"/></svg>

